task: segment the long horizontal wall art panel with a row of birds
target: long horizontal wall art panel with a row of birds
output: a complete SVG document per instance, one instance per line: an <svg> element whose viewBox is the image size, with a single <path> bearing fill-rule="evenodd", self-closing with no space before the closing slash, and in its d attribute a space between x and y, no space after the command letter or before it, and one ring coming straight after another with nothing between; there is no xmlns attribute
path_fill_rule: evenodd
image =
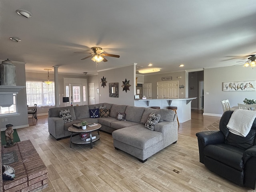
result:
<svg viewBox="0 0 256 192"><path fill-rule="evenodd" d="M255 91L255 81L223 82L223 91Z"/></svg>

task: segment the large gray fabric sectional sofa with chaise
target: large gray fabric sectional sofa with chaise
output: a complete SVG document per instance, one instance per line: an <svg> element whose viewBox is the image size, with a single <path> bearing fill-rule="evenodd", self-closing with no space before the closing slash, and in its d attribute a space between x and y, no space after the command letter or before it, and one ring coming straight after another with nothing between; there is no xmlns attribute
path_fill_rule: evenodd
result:
<svg viewBox="0 0 256 192"><path fill-rule="evenodd" d="M89 109L103 106L110 109L110 117L90 118ZM59 117L59 111L64 109L70 110L72 122L64 124L63 119ZM117 112L125 113L126 120L117 120ZM160 114L160 120L154 126L154 131L144 126L152 112ZM58 140L71 135L68 131L69 126L84 120L100 123L102 126L100 130L112 134L116 149L135 156L141 162L145 162L148 157L178 140L178 122L172 110L109 103L50 108L48 131Z"/></svg>

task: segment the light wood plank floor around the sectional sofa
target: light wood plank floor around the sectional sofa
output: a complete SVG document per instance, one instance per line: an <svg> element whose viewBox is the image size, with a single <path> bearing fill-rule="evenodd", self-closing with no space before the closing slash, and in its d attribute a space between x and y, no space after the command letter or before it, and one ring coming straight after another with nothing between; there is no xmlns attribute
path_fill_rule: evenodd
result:
<svg viewBox="0 0 256 192"><path fill-rule="evenodd" d="M192 110L192 119L180 123L178 142L145 163L115 150L112 136L105 132L100 132L92 149L75 144L70 148L69 138L56 141L49 135L47 116L30 120L30 127L17 132L21 140L31 140L47 166L49 187L42 192L252 191L217 176L199 162L195 134L219 119Z"/></svg>

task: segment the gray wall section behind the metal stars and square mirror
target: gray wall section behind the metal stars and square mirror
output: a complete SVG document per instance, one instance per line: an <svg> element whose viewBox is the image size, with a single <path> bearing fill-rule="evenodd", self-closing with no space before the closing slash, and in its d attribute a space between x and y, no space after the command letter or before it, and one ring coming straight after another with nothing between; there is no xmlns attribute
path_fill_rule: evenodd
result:
<svg viewBox="0 0 256 192"><path fill-rule="evenodd" d="M135 95L135 64L132 64L130 66L124 66L122 68L116 68L111 70L105 70L98 73L98 82L99 82L99 102L107 102L107 103L114 103L114 104L124 104L124 105L131 105L134 106L134 95ZM104 76L106 77L106 86L103 88L101 86L101 78ZM127 90L127 92L123 91L123 88L121 87L123 84L123 81L125 79L128 81L130 80L130 90ZM118 82L118 98L109 97L109 91L108 91L108 84L109 83L116 83Z"/></svg>

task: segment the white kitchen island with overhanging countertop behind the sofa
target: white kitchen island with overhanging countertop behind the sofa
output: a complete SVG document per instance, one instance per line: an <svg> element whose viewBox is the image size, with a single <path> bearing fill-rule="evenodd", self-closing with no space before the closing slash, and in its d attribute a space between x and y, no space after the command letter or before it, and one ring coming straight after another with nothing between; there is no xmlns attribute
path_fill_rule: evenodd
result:
<svg viewBox="0 0 256 192"><path fill-rule="evenodd" d="M191 119L191 101L192 98L177 98L177 99L138 99L134 100L134 106L148 107L159 106L161 109L167 109L168 106L176 106L179 122L183 123Z"/></svg>

